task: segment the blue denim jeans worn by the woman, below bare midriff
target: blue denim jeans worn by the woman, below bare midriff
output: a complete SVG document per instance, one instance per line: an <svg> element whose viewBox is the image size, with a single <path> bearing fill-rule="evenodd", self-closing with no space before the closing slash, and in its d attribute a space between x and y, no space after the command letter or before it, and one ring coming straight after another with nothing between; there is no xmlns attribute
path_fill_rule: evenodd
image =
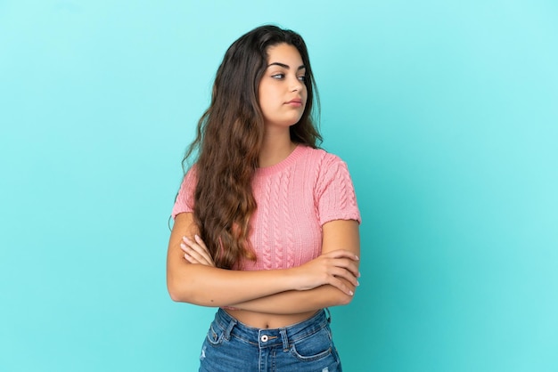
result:
<svg viewBox="0 0 558 372"><path fill-rule="evenodd" d="M329 311L285 328L251 328L219 309L201 348L201 372L341 372Z"/></svg>

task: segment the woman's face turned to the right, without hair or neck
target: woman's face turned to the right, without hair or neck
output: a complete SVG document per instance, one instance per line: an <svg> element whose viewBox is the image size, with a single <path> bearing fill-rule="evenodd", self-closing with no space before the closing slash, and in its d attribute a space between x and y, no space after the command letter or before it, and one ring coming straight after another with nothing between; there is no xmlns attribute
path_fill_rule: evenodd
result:
<svg viewBox="0 0 558 372"><path fill-rule="evenodd" d="M288 128L299 122L306 107L306 69L293 45L270 46L267 56L267 69L258 88L259 108L267 128Z"/></svg>

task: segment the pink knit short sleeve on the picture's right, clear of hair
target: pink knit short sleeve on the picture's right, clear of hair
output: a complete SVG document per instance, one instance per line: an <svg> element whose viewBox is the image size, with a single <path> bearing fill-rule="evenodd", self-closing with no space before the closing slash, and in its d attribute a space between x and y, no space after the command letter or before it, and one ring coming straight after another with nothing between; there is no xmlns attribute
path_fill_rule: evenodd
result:
<svg viewBox="0 0 558 372"><path fill-rule="evenodd" d="M360 223L357 196L347 164L329 155L321 164L319 174L315 202L320 225L334 220Z"/></svg>

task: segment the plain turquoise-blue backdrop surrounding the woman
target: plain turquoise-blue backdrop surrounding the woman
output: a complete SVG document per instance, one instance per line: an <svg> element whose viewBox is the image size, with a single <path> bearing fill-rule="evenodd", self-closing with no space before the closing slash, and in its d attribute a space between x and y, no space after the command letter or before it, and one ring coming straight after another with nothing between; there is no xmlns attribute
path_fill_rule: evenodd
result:
<svg viewBox="0 0 558 372"><path fill-rule="evenodd" d="M558 370L554 1L0 1L0 370L195 370L168 214L234 39L305 37L363 216L347 371Z"/></svg>

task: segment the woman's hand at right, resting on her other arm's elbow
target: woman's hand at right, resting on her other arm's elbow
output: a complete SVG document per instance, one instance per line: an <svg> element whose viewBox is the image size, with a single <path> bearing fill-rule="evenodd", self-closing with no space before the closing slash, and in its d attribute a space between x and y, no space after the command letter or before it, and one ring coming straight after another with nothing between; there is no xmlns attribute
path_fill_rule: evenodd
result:
<svg viewBox="0 0 558 372"><path fill-rule="evenodd" d="M342 279L354 287L358 286L358 256L339 249L316 257L299 267L292 268L297 277L297 290L308 290L324 285L337 287L347 295L354 295L352 289Z"/></svg>

